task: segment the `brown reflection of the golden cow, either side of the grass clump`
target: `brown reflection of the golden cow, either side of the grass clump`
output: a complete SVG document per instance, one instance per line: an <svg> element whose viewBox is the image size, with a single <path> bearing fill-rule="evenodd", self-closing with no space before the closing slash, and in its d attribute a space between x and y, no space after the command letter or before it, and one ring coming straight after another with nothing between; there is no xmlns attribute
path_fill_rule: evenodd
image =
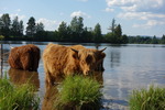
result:
<svg viewBox="0 0 165 110"><path fill-rule="evenodd" d="M103 84L102 72L94 72L92 75L90 75L88 77L96 79L101 85ZM56 84L61 84L64 78L58 76L56 79L59 79L59 80L56 80ZM48 85L45 82L45 86L46 86L45 87L46 92L45 92L45 96L43 99L42 110L55 110L54 102L58 95L58 88L57 88L58 85L52 86L52 85ZM66 108L65 110L68 110L68 108Z"/></svg>

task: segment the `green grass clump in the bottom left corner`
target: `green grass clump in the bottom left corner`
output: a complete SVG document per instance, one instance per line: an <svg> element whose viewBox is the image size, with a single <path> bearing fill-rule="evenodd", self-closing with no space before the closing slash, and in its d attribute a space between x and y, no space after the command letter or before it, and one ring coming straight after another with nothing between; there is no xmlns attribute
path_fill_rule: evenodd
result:
<svg viewBox="0 0 165 110"><path fill-rule="evenodd" d="M14 86L0 78L0 110L37 110L38 101L32 85Z"/></svg>

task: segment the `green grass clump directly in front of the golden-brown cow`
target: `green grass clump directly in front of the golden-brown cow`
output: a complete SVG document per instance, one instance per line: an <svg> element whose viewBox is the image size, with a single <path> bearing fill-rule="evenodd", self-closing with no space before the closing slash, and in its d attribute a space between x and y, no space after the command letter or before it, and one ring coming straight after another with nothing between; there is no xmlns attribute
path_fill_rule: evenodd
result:
<svg viewBox="0 0 165 110"><path fill-rule="evenodd" d="M100 84L89 77L67 76L59 86L55 108L59 110L99 110L101 107Z"/></svg>

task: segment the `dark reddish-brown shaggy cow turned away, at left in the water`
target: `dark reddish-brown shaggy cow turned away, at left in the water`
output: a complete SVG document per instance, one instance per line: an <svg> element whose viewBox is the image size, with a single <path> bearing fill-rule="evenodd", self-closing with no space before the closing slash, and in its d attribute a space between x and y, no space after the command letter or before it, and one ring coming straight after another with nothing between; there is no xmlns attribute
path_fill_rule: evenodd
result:
<svg viewBox="0 0 165 110"><path fill-rule="evenodd" d="M8 58L12 68L30 72L37 72L38 61L40 48L33 44L11 48Z"/></svg>

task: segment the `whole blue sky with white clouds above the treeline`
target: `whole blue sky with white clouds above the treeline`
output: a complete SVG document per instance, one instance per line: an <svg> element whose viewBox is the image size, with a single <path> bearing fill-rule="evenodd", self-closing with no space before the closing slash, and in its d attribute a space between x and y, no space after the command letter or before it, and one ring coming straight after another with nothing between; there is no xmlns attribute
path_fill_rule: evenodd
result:
<svg viewBox="0 0 165 110"><path fill-rule="evenodd" d="M11 20L18 15L24 26L34 16L50 31L57 30L62 21L69 24L76 15L88 28L100 23L103 34L113 18L127 35L165 34L165 0L0 0L0 15L3 13Z"/></svg>

